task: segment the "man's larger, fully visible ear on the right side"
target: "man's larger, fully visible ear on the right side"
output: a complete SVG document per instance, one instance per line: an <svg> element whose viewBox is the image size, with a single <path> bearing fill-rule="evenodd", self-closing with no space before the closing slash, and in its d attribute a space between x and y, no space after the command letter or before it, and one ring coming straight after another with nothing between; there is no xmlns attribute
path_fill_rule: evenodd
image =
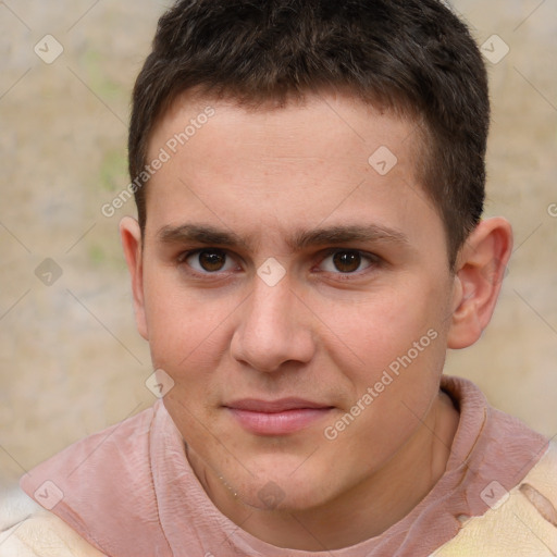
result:
<svg viewBox="0 0 557 557"><path fill-rule="evenodd" d="M474 344L492 319L512 250L512 228L499 216L481 221L457 258L449 348Z"/></svg>

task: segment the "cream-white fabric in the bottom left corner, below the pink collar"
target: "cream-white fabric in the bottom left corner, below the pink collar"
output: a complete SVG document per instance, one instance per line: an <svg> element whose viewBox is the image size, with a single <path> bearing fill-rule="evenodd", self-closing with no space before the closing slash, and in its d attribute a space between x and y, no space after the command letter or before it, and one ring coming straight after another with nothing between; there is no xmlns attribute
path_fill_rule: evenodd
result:
<svg viewBox="0 0 557 557"><path fill-rule="evenodd" d="M102 557L63 520L23 492L0 504L0 557Z"/></svg>

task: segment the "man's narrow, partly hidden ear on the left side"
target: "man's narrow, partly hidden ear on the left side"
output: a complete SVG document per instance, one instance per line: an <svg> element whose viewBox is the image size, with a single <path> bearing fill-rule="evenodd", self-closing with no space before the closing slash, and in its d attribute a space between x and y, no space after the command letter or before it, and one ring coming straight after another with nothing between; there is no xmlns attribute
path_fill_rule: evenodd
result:
<svg viewBox="0 0 557 557"><path fill-rule="evenodd" d="M141 230L139 223L132 216L124 216L120 221L120 237L127 269L132 276L132 293L134 295L135 321L139 334L147 341L147 320L145 318L144 302L144 268L143 268L143 245Z"/></svg>

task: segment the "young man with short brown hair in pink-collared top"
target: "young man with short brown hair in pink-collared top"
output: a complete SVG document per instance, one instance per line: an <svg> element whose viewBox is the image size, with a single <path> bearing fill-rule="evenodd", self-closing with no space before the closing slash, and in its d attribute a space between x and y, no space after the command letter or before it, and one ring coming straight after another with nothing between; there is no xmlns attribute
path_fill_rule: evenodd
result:
<svg viewBox="0 0 557 557"><path fill-rule="evenodd" d="M50 512L0 548L555 554L554 446L442 376L511 251L481 220L488 114L441 2L177 2L121 223L163 397L24 476Z"/></svg>

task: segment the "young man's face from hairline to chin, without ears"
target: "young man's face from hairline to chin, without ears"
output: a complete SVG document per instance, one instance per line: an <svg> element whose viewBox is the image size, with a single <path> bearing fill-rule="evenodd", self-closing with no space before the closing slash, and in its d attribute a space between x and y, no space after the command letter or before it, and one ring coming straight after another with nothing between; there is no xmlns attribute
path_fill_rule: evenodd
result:
<svg viewBox="0 0 557 557"><path fill-rule="evenodd" d="M454 280L412 129L322 96L184 98L153 133L139 330L198 475L247 505L342 497L437 395Z"/></svg>

